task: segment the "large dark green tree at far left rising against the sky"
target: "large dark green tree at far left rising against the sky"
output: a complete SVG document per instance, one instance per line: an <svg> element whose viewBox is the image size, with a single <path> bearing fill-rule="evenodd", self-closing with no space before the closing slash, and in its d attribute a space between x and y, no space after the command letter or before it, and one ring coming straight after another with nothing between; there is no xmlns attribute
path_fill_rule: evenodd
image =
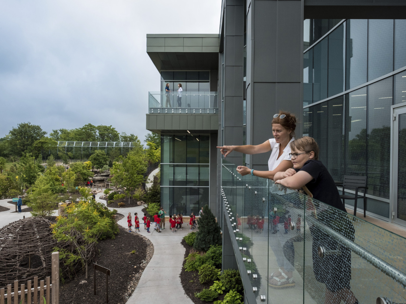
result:
<svg viewBox="0 0 406 304"><path fill-rule="evenodd" d="M29 150L35 141L44 137L47 133L41 129L41 126L22 122L17 124L17 128L12 128L9 132L9 144L11 152L21 156L23 152Z"/></svg>

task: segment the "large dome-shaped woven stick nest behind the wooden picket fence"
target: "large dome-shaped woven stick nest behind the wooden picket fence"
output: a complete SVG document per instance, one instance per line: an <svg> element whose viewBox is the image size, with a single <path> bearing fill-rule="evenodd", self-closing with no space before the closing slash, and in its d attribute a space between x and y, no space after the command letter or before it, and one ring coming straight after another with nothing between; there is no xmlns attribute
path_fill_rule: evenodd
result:
<svg viewBox="0 0 406 304"><path fill-rule="evenodd" d="M14 280L40 280L51 274L51 255L58 246L73 252L69 243L58 243L52 237L51 222L43 217L29 217L0 229L0 287ZM75 233L76 231L72 231ZM80 242L80 235L75 235ZM92 257L95 250L91 250ZM63 271L69 272L60 263Z"/></svg>

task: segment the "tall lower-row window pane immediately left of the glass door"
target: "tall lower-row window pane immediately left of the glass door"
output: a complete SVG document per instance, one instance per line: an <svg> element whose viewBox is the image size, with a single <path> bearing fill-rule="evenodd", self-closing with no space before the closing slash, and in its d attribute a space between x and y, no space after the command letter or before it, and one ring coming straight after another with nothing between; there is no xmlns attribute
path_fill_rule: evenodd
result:
<svg viewBox="0 0 406 304"><path fill-rule="evenodd" d="M389 199L392 77L368 86L368 193Z"/></svg>

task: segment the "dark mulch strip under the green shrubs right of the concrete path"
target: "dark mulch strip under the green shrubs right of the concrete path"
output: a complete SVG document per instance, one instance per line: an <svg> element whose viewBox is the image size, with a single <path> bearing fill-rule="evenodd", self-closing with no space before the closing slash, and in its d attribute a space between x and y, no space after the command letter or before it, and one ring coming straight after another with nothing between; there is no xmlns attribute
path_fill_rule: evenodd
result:
<svg viewBox="0 0 406 304"><path fill-rule="evenodd" d="M188 244L186 244L185 240L182 239L181 244L186 248L185 251L185 256L184 258L188 257L190 250L192 250L192 246L189 246ZM183 261L182 264L182 270L180 273L180 281L182 284L182 287L185 291L185 294L195 303L195 304L207 304L207 303L213 303L213 302L206 302L203 300L200 300L199 298L196 298L194 296L194 293L196 292L200 292L202 291L204 288L209 288L210 286L212 286L212 284L206 283L206 284L201 284L199 282L199 272L198 271L186 271L184 268L184 265L186 263L186 260ZM217 299L215 299L214 301L217 300L224 300L224 296L226 293L220 294L218 296Z"/></svg>

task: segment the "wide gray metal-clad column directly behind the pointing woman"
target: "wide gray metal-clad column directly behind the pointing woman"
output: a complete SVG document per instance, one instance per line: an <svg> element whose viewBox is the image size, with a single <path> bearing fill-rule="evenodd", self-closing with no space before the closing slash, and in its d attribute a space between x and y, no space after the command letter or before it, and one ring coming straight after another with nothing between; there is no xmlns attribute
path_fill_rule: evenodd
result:
<svg viewBox="0 0 406 304"><path fill-rule="evenodd" d="M272 116L296 114L302 134L303 0L252 0L247 12L247 144L272 138ZM227 17L227 16L226 16ZM266 170L270 152L246 158Z"/></svg>

